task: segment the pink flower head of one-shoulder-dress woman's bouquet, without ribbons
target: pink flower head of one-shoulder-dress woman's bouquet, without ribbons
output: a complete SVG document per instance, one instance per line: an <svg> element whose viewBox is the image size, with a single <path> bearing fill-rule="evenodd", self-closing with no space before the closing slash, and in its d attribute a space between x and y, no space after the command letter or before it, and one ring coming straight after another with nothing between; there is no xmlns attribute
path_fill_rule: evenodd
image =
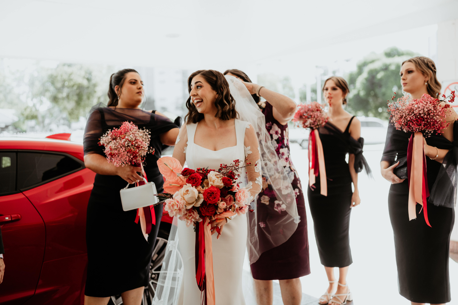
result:
<svg viewBox="0 0 458 305"><path fill-rule="evenodd" d="M294 114L293 122L303 128L316 129L327 123L329 117L324 112L323 106L318 102L300 104Z"/></svg>

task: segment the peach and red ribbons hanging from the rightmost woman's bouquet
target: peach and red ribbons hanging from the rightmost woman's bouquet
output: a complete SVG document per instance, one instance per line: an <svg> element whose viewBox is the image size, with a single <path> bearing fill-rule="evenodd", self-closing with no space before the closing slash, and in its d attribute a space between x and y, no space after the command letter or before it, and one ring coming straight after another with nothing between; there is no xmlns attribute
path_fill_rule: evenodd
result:
<svg viewBox="0 0 458 305"><path fill-rule="evenodd" d="M431 227L426 201L430 195L426 177L426 156L423 150L423 134L420 132L414 133L409 139L407 177L409 181L409 220L417 218L415 205L420 203L423 206L425 222Z"/></svg>

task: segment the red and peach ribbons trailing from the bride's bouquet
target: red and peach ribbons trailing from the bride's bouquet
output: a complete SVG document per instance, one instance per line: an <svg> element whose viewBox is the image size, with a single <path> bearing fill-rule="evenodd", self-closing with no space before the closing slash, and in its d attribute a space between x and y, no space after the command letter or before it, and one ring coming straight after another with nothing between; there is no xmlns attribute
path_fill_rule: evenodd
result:
<svg viewBox="0 0 458 305"><path fill-rule="evenodd" d="M210 230L208 217L196 223L196 280L197 286L204 294L202 300L204 305L215 305L212 232Z"/></svg>

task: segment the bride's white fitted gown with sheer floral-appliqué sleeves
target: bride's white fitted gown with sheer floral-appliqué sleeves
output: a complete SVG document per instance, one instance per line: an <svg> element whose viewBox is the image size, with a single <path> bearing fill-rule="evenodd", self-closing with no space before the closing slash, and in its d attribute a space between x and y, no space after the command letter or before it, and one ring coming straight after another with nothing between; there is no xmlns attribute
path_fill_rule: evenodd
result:
<svg viewBox="0 0 458 305"><path fill-rule="evenodd" d="M198 123L190 123L182 127L174 148L174 156L187 162L191 169L208 167L217 170L221 163L231 164L234 160L251 162L239 171L240 187L246 187L251 193L252 200L261 190L261 164L256 132L248 122L235 119L237 144L221 150L208 150L194 143L194 134ZM225 135L221 135L224 137ZM250 147L250 150L247 148ZM240 163L242 164L242 163ZM243 165L245 166L245 162ZM247 181L247 183L245 183ZM251 203L252 204L252 203ZM250 213L250 212L247 212ZM213 274L215 281L215 296L217 305L244 305L242 289L242 268L247 241L246 214L235 215L224 225L222 234L212 236ZM191 225L186 227L184 221L178 221L178 237L184 273L178 304L200 305L201 291L196 283L195 245L196 233Z"/></svg>

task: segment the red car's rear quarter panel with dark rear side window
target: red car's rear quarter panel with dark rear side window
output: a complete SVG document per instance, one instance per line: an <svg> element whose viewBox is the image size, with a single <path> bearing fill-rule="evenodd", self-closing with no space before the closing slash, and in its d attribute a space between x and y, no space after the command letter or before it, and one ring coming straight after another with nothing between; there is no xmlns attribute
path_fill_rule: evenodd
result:
<svg viewBox="0 0 458 305"><path fill-rule="evenodd" d="M70 155L18 152L18 187L46 225L43 269L26 304L82 304L86 282L86 210L95 173Z"/></svg>

